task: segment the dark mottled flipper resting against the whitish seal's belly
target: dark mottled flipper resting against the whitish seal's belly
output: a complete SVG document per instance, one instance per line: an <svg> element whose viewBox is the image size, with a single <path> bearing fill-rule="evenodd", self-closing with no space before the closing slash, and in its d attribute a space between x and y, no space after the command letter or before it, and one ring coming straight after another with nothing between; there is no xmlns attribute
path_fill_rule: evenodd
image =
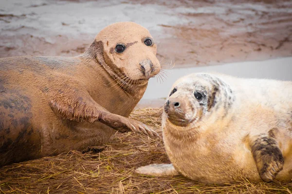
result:
<svg viewBox="0 0 292 194"><path fill-rule="evenodd" d="M251 150L261 179L273 181L284 165L284 157L276 140L270 136L258 136L251 143Z"/></svg>

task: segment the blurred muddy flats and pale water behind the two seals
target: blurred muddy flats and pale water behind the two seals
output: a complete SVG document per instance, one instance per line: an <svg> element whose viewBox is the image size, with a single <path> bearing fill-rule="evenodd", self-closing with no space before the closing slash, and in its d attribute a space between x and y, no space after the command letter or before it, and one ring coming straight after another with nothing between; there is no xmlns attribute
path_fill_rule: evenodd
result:
<svg viewBox="0 0 292 194"><path fill-rule="evenodd" d="M192 72L292 80L292 0L0 0L0 57L76 56L118 21L150 31L167 72L140 106Z"/></svg>

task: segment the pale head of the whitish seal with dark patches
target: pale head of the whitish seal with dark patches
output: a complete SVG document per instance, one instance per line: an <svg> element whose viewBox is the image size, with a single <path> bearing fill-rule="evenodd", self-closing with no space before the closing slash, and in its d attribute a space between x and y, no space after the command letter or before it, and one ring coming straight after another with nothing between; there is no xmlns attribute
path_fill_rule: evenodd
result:
<svg viewBox="0 0 292 194"><path fill-rule="evenodd" d="M218 99L223 98L219 82L218 78L205 74L177 80L164 104L167 120L176 126L192 128L201 120L205 122L212 115Z"/></svg>

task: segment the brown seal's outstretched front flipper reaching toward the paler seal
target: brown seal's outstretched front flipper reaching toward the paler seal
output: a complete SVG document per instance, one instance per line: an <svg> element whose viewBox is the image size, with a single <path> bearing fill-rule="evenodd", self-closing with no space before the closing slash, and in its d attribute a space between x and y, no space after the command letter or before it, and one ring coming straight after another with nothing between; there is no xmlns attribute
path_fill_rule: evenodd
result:
<svg viewBox="0 0 292 194"><path fill-rule="evenodd" d="M134 131L149 136L159 136L150 127L139 121L110 113L95 102L86 90L80 90L80 88L85 87L76 87L75 85L80 84L71 80L70 84L63 83L55 90L43 90L50 99L51 109L57 115L77 122L93 123L99 121L119 132Z"/></svg>

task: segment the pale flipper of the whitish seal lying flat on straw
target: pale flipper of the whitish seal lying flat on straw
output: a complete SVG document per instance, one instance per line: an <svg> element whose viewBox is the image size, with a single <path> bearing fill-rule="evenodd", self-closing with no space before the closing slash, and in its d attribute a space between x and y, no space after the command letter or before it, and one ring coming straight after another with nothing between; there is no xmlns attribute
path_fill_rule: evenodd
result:
<svg viewBox="0 0 292 194"><path fill-rule="evenodd" d="M135 172L142 175L154 175L154 176L179 175L179 172L175 170L172 164L151 164L148 166L141 166L137 168Z"/></svg>

